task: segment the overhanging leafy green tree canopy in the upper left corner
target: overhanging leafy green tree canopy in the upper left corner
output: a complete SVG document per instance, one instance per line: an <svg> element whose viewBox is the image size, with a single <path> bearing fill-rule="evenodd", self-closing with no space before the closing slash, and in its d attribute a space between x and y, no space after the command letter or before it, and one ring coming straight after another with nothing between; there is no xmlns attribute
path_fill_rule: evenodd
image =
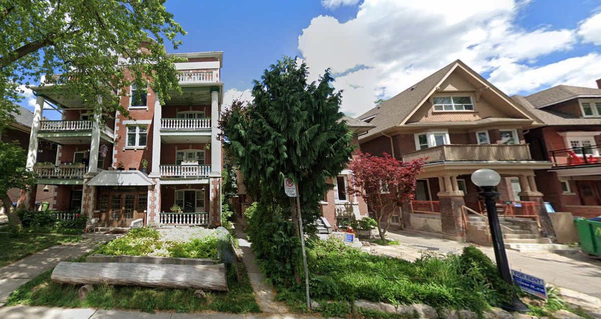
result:
<svg viewBox="0 0 601 319"><path fill-rule="evenodd" d="M163 44L177 49L185 34L165 0L2 0L0 1L0 129L12 121L20 85L45 75L67 97L100 114L127 115L115 94L151 77L163 100L178 90L176 58ZM144 48L141 49L141 46ZM121 57L118 60L118 57ZM125 68L126 67L126 68ZM58 77L52 77L59 74ZM37 83L35 83L37 84ZM121 91L121 94L125 92ZM100 99L99 99L100 97Z"/></svg>

